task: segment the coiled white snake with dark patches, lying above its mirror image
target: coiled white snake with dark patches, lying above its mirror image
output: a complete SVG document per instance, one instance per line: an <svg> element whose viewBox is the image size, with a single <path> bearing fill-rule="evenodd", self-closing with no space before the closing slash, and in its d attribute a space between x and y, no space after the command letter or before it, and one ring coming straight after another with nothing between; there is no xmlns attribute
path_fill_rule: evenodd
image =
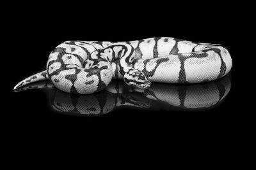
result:
<svg viewBox="0 0 256 170"><path fill-rule="evenodd" d="M194 43L175 38L138 41L65 41L49 55L45 71L15 87L49 79L57 89L92 94L111 79L147 89L150 82L200 83L225 76L232 67L228 50L218 44Z"/></svg>

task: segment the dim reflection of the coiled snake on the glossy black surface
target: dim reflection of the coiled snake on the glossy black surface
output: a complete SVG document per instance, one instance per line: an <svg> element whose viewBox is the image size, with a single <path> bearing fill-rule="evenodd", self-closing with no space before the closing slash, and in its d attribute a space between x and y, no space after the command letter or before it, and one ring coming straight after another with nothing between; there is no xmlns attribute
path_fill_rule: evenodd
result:
<svg viewBox="0 0 256 170"><path fill-rule="evenodd" d="M19 91L47 89L51 96L50 106L54 111L70 115L102 115L120 108L209 110L223 101L230 87L230 78L225 76L220 80L189 85L152 83L145 90L129 87L124 81L112 80L105 90L83 96L61 92L50 81L39 81Z"/></svg>

